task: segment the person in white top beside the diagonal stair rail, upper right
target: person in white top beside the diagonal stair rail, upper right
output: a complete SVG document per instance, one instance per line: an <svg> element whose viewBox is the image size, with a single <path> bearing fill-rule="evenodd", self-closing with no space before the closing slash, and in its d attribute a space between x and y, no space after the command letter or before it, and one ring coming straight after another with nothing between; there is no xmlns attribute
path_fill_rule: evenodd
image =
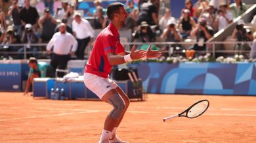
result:
<svg viewBox="0 0 256 143"><path fill-rule="evenodd" d="M228 12L226 8L228 8L228 5L226 5L226 3L222 3L220 5L220 9L218 10L218 16L216 17L214 24L217 31L224 29L233 21L232 13Z"/></svg>

